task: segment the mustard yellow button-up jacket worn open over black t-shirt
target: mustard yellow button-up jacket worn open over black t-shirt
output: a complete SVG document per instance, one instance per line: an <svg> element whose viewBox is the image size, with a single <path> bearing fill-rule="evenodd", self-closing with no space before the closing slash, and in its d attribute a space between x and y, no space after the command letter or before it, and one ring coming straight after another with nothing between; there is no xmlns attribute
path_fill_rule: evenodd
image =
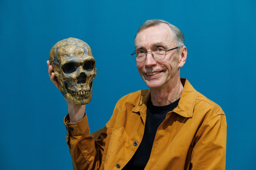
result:
<svg viewBox="0 0 256 170"><path fill-rule="evenodd" d="M224 170L226 116L188 80L181 82L181 99L158 127L145 170ZM149 98L149 90L122 97L107 125L92 134L86 115L77 123L69 123L67 115L64 123L74 170L121 170L142 141Z"/></svg>

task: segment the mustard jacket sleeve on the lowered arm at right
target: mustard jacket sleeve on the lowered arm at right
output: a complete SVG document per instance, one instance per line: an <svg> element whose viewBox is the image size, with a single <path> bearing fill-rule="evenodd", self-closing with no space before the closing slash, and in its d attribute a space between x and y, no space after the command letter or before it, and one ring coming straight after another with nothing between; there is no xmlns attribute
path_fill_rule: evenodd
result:
<svg viewBox="0 0 256 170"><path fill-rule="evenodd" d="M191 155L192 170L225 170L227 122L225 114L209 118L199 129Z"/></svg>

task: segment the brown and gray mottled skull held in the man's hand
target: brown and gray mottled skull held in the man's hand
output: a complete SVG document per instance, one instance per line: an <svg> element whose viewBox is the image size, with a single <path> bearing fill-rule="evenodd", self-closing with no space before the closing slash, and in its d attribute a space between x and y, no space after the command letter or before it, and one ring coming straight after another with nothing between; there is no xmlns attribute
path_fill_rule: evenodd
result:
<svg viewBox="0 0 256 170"><path fill-rule="evenodd" d="M89 45L77 38L61 40L51 49L49 59L64 97L74 104L89 103L96 76Z"/></svg>

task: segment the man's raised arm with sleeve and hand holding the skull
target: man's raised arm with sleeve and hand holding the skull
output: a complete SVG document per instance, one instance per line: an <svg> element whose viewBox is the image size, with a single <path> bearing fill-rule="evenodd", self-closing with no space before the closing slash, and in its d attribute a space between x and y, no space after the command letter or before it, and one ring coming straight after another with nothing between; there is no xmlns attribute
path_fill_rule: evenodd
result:
<svg viewBox="0 0 256 170"><path fill-rule="evenodd" d="M55 79L53 67L47 61L50 80L59 88ZM65 99L66 100L66 99ZM90 134L88 119L85 115L85 105L68 104L68 115L64 118L67 128L67 143L72 158L74 170L98 170L102 164L103 149L107 136L107 128L97 131L94 137Z"/></svg>

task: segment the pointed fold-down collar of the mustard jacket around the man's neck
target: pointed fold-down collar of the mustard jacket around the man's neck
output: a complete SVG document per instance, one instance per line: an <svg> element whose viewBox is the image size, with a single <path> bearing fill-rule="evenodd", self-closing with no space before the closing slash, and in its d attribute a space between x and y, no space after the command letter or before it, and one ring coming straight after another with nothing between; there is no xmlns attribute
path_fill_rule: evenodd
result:
<svg viewBox="0 0 256 170"><path fill-rule="evenodd" d="M196 90L188 82L187 79L181 78L181 83L183 85L183 91L181 94L181 99L173 112L185 117L192 117L195 101L196 101ZM150 99L150 90L141 90L141 97L139 103L135 105L132 109L134 112L140 112L143 114L143 110L146 108L147 102Z"/></svg>

